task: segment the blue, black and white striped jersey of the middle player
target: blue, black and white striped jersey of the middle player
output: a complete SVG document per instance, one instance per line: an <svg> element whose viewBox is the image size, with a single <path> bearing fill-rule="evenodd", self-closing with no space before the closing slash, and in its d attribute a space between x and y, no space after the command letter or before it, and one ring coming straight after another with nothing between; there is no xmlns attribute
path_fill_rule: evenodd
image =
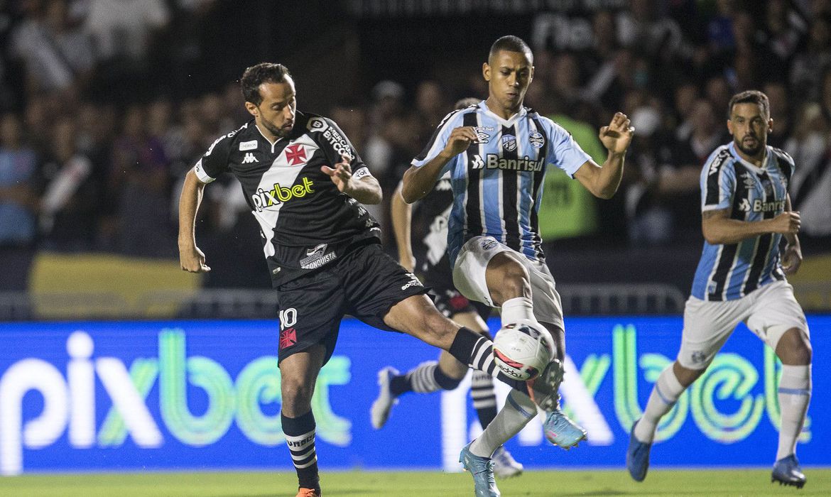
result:
<svg viewBox="0 0 831 497"><path fill-rule="evenodd" d="M523 107L506 121L481 101L447 115L412 165L435 159L460 126L475 126L479 142L440 173L450 172L454 197L447 235L450 264L465 241L479 235L492 236L531 260L544 260L537 215L545 170L555 165L573 177L590 160L588 154L547 117Z"/></svg>

